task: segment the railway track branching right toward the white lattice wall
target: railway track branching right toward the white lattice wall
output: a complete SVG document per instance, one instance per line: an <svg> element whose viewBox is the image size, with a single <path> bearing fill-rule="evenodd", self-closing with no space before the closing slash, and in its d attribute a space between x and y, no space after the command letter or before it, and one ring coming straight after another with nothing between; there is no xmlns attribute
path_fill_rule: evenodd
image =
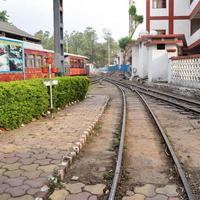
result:
<svg viewBox="0 0 200 200"><path fill-rule="evenodd" d="M158 90L139 86L139 85L136 85L136 84L124 83L122 81L117 81L117 80L114 80L114 79L106 79L106 80L113 81L113 82L115 82L115 83L117 83L118 85L121 85L121 86L134 87L142 94L145 94L145 95L148 95L150 97L165 101L169 104L172 104L172 105L175 105L179 108L182 108L185 111L190 111L194 114L200 114L200 102L199 101L187 99L187 98L177 96L177 95L172 95L172 94L169 94L169 93L166 93L166 92L161 92L161 91L158 91Z"/></svg>

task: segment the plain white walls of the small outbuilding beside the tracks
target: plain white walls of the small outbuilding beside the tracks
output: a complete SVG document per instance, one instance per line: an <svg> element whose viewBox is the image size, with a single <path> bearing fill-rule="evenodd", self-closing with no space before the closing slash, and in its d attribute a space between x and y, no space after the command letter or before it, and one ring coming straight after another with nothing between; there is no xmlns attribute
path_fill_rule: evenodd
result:
<svg viewBox="0 0 200 200"><path fill-rule="evenodd" d="M176 49L176 52L167 52ZM166 45L165 49L157 49L157 45L146 46L144 42L132 48L132 67L137 69L135 75L140 78L148 77L149 82L168 81L169 58L177 56L176 45Z"/></svg>

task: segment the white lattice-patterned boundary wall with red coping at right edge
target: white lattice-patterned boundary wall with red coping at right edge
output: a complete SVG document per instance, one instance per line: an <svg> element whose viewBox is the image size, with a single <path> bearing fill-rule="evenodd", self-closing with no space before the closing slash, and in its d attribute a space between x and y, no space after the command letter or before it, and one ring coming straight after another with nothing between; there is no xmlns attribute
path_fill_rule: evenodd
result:
<svg viewBox="0 0 200 200"><path fill-rule="evenodd" d="M200 88L200 55L171 58L169 71L170 83Z"/></svg>

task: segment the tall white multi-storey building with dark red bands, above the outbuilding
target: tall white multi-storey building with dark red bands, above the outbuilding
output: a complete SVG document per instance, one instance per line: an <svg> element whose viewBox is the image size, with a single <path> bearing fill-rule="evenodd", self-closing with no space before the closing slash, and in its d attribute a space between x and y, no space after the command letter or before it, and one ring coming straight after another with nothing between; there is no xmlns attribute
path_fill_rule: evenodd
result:
<svg viewBox="0 0 200 200"><path fill-rule="evenodd" d="M158 34L184 34L185 54L200 52L199 0L146 0L146 30Z"/></svg>

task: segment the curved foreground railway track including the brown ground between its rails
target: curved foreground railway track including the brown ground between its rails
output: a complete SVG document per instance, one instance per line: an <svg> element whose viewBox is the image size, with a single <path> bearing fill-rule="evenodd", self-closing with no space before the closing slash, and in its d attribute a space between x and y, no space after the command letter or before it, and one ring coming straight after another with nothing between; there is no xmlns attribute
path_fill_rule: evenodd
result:
<svg viewBox="0 0 200 200"><path fill-rule="evenodd" d="M109 80L107 79L107 81ZM125 85L117 82L111 81L111 83L117 87L119 85L125 87ZM126 93L127 96L128 111L126 113L124 108L122 140L109 200L121 198L116 185L117 182L119 183L119 165L122 162L123 145L125 145L123 169L127 173L128 180L120 183L120 188L124 190L122 192L128 191L130 193L132 191L134 194L132 194L133 199L138 200L195 200L182 165L156 115L139 91L125 90L125 92L122 92ZM135 94L132 94L132 92L135 92ZM125 99L125 94L123 96ZM126 115L127 126L125 127L124 118ZM124 136L125 133L126 136ZM122 144L124 141L125 144ZM165 154L166 149L163 147L163 142L165 144L164 146L167 147L170 159ZM175 168L173 165L175 165ZM175 173L175 169L177 174ZM181 192L180 188L184 188L184 192ZM178 189L179 193L177 193ZM126 195L128 194L123 195L125 196L123 199L130 198L128 196L126 197Z"/></svg>

